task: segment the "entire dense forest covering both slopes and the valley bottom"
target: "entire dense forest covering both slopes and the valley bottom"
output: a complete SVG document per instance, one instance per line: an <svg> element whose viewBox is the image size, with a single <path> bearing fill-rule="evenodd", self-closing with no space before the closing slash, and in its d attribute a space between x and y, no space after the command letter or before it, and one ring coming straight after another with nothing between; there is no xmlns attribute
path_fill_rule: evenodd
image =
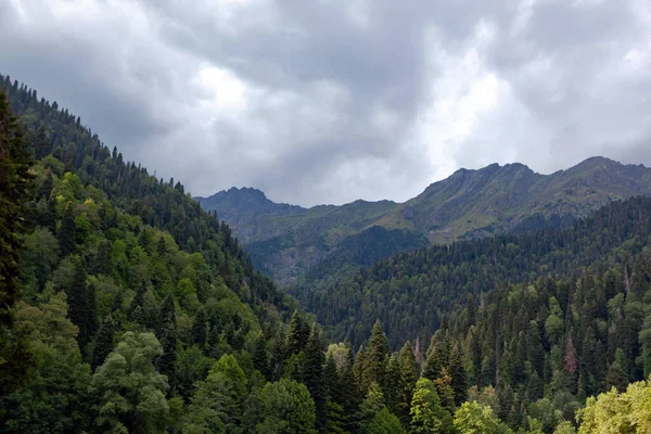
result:
<svg viewBox="0 0 651 434"><path fill-rule="evenodd" d="M651 429L651 199L291 296L179 181L0 87L0 432Z"/></svg>

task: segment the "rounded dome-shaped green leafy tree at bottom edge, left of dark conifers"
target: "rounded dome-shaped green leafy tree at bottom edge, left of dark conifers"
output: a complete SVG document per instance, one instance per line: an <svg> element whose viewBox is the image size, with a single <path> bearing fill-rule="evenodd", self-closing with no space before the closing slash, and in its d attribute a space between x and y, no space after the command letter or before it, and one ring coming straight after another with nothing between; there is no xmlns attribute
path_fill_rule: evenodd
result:
<svg viewBox="0 0 651 434"><path fill-rule="evenodd" d="M256 433L315 434L315 403L307 387L293 380L267 383L259 394Z"/></svg>

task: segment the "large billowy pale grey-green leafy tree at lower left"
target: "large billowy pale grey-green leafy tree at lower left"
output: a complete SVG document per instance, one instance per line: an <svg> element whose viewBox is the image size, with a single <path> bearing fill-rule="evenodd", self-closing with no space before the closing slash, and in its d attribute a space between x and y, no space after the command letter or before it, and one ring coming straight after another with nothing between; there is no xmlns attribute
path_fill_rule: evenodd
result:
<svg viewBox="0 0 651 434"><path fill-rule="evenodd" d="M161 432L169 409L167 378L154 367L162 353L153 333L123 335L92 378L90 392L99 403L99 427L116 433Z"/></svg>

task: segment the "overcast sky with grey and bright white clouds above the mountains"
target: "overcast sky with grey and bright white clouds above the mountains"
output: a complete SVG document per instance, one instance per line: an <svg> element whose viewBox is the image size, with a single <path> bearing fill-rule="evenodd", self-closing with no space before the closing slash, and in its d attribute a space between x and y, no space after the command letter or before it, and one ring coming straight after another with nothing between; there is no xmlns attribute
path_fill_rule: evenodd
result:
<svg viewBox="0 0 651 434"><path fill-rule="evenodd" d="M0 73L193 194L651 165L650 0L0 0Z"/></svg>

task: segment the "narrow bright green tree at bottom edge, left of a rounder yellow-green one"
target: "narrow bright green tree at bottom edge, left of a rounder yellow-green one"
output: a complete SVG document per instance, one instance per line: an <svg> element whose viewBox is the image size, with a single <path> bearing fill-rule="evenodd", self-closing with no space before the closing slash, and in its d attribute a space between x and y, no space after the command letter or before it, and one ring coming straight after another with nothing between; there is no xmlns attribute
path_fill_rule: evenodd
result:
<svg viewBox="0 0 651 434"><path fill-rule="evenodd" d="M416 383L410 414L414 433L454 432L452 417L442 406L432 380L421 378Z"/></svg>

